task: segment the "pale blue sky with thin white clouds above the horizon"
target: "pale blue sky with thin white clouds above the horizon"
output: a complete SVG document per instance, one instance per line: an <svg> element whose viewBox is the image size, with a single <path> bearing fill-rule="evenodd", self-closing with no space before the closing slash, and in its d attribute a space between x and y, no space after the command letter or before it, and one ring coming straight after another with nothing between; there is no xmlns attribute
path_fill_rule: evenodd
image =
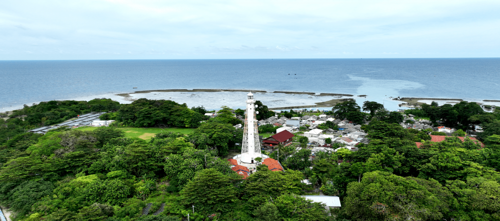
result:
<svg viewBox="0 0 500 221"><path fill-rule="evenodd" d="M0 60L500 57L500 0L1 0Z"/></svg>

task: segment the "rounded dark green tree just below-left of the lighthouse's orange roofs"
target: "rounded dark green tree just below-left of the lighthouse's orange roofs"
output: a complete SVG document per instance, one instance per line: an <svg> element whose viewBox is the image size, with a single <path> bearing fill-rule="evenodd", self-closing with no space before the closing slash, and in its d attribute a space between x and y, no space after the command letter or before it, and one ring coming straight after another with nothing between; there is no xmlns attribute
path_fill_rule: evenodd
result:
<svg viewBox="0 0 500 221"><path fill-rule="evenodd" d="M236 189L229 177L214 169L196 173L180 191L183 205L194 205L205 212L227 212L237 202Z"/></svg>

